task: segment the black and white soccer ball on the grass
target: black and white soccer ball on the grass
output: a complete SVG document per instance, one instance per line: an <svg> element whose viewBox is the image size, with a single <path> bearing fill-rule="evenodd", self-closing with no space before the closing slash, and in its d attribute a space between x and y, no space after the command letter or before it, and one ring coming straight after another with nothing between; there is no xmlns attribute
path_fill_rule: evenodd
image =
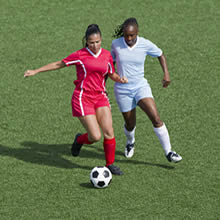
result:
<svg viewBox="0 0 220 220"><path fill-rule="evenodd" d="M94 167L90 173L90 181L96 188L107 187L112 180L112 173L107 167Z"/></svg>

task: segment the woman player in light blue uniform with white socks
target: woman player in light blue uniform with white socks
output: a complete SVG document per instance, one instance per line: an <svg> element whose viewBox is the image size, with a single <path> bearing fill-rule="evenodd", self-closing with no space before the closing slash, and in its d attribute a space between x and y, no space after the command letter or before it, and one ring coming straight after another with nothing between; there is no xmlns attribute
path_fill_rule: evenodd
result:
<svg viewBox="0 0 220 220"><path fill-rule="evenodd" d="M111 54L120 77L128 79L127 84L115 83L114 91L119 109L124 117L124 132L127 137L125 156L134 154L136 107L139 106L152 121L153 129L160 140L165 155L170 162L179 162L182 157L171 150L169 133L161 121L150 85L144 78L144 62L147 55L158 57L164 72L163 87L170 84L170 76L165 56L151 41L138 36L138 23L129 18L115 30L117 39L112 42Z"/></svg>

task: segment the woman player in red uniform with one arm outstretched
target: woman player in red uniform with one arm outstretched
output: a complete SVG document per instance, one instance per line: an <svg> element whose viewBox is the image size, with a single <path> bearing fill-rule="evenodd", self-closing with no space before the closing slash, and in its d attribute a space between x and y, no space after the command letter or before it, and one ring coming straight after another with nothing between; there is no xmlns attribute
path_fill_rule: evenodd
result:
<svg viewBox="0 0 220 220"><path fill-rule="evenodd" d="M27 70L24 77L33 76L39 72L56 70L75 65L77 79L72 96L72 114L77 117L86 129L86 133L77 134L72 144L73 156L78 156L83 144L92 144L104 135L104 152L106 167L112 174L122 175L123 172L115 166L115 136L112 126L112 115L105 89L105 77L127 83L126 78L120 78L115 73L113 60L109 51L101 48L101 31L96 24L89 25L85 36L85 47L70 54L61 61L47 64L35 70Z"/></svg>

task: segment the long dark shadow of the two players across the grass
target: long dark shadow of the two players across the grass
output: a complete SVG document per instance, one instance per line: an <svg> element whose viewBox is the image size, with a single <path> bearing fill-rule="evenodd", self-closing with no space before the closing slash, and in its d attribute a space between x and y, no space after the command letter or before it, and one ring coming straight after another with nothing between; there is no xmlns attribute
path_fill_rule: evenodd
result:
<svg viewBox="0 0 220 220"><path fill-rule="evenodd" d="M39 144L36 142L22 142L20 143L23 148L11 148L7 146L0 145L0 155L14 157L19 160L23 160L29 163L35 163L39 165L47 165L54 166L59 168L73 169L80 168L91 170L93 167L84 166L73 163L71 160L64 158L65 156L71 156L70 148L71 144ZM92 149L92 150L91 150ZM147 166L156 166L165 169L173 169L173 166L150 163L146 161L139 160L120 160L117 159L120 157L124 157L124 154L121 151L116 151L116 159L117 163L127 163L127 164L142 164ZM83 146L79 158L95 158L103 161L103 165L105 163L104 160L104 150L103 148L99 148L95 145L85 145Z"/></svg>

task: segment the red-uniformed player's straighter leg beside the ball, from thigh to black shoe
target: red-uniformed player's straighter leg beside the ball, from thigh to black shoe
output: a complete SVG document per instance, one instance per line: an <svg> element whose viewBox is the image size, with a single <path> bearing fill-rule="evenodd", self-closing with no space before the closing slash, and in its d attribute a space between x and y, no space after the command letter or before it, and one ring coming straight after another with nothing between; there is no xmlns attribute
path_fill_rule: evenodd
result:
<svg viewBox="0 0 220 220"><path fill-rule="evenodd" d="M122 175L123 172L120 170L120 168L113 165L115 161L116 141L112 126L112 114L110 107L98 107L96 109L96 117L104 136L103 147L105 152L106 166L110 169L112 174Z"/></svg>

